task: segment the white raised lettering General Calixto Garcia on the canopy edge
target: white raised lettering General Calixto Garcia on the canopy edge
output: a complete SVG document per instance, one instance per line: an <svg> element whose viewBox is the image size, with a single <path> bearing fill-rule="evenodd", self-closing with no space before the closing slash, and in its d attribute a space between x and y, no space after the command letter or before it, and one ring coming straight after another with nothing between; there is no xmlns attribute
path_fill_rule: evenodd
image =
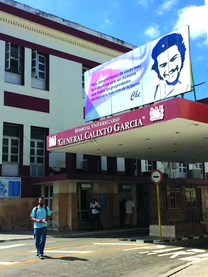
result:
<svg viewBox="0 0 208 277"><path fill-rule="evenodd" d="M143 117L143 119L144 119L144 117ZM117 117L116 121L119 121L119 117ZM86 132L84 132L84 134L72 136L69 138L59 138L58 144L59 144L59 146L64 146L64 145L68 145L68 144L72 144L72 143L76 143L76 142L81 142L81 141L85 141L85 140L89 140L89 139L93 139L93 138L102 137L104 135L112 134L113 132L120 132L120 131L125 131L128 129L133 129L136 127L140 127L142 125L143 125L143 123L142 123L141 118L131 120L130 122L127 121L124 123L116 122L113 126L108 126L108 127L102 128L102 129L98 129L96 131L86 131ZM91 129L90 125L86 126L85 128L88 129L88 127L90 127L89 129Z"/></svg>

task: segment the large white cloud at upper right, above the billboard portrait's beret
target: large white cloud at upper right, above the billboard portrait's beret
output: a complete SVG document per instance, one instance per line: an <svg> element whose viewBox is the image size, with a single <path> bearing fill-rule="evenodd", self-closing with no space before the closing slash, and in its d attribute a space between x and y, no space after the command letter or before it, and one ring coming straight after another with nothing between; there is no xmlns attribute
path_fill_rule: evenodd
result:
<svg viewBox="0 0 208 277"><path fill-rule="evenodd" d="M174 30L189 25L190 37L193 39L206 34L205 6L188 6L178 10L178 21Z"/></svg>

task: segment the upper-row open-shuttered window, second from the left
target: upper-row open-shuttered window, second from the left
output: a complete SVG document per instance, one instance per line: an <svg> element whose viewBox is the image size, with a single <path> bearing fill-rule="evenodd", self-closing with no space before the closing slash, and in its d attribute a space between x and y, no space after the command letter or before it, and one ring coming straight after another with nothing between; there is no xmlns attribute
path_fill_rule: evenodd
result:
<svg viewBox="0 0 208 277"><path fill-rule="evenodd" d="M31 65L32 87L46 89L46 56L32 50Z"/></svg>

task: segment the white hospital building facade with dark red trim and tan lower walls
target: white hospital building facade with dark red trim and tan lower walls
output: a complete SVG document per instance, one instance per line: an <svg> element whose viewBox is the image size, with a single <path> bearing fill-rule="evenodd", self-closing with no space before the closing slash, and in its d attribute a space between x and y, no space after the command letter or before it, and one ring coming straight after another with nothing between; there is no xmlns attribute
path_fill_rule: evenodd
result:
<svg viewBox="0 0 208 277"><path fill-rule="evenodd" d="M0 26L0 176L21 178L20 198L0 197L7 218L0 222L2 228L31 228L29 214L40 194L52 212L53 230L87 227L89 203L95 197L104 207L105 227L119 226L119 202L130 195L137 210L134 225L150 224L157 221L157 211L150 206L151 197L155 199L148 178L152 170L158 168L177 179L196 169L199 179L207 179L206 164L47 152L47 135L85 124L84 72L135 46L14 1L0 1ZM191 183L194 193L196 186ZM168 191L174 191L170 210L175 218L178 202L182 210L189 190L180 194L174 182L173 187ZM199 215L197 222L207 219L207 192L203 196L203 218ZM23 218L14 215L21 205Z"/></svg>

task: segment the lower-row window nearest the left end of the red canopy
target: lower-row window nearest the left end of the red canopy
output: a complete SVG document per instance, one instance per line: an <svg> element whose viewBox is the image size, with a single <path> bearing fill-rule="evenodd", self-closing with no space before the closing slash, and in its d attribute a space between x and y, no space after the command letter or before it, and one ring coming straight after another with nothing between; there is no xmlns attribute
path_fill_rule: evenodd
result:
<svg viewBox="0 0 208 277"><path fill-rule="evenodd" d="M30 163L44 165L45 163L45 130L31 128Z"/></svg>

